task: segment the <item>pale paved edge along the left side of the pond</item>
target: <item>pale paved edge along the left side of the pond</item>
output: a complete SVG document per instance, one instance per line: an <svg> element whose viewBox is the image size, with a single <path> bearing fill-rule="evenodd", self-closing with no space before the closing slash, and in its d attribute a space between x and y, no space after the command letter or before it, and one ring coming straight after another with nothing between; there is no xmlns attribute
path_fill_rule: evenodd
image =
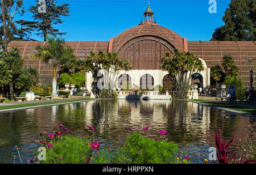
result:
<svg viewBox="0 0 256 175"><path fill-rule="evenodd" d="M47 107L47 106L64 105L64 104L70 104L70 103L79 103L79 102L83 102L83 101L93 101L93 100L106 100L106 99L77 100L77 101L69 101L69 102L64 102L64 103L60 102L60 103L47 104L47 105L35 105L35 106L27 106L27 107L22 107L22 108L2 109L2 110L0 110L0 113L11 112L14 110L24 110L24 109L42 108L42 107Z"/></svg>

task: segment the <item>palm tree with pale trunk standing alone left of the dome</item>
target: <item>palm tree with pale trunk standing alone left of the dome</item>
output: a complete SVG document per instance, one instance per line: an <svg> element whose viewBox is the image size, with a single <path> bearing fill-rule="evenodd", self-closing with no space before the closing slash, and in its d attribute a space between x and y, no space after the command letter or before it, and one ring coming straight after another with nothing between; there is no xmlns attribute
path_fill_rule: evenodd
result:
<svg viewBox="0 0 256 175"><path fill-rule="evenodd" d="M73 50L65 44L63 39L55 39L54 37L49 37L49 35L47 35L47 44L36 46L35 49L38 50L38 54L31 57L41 59L52 67L52 95L57 95L56 68L64 65L70 59L74 59Z"/></svg>

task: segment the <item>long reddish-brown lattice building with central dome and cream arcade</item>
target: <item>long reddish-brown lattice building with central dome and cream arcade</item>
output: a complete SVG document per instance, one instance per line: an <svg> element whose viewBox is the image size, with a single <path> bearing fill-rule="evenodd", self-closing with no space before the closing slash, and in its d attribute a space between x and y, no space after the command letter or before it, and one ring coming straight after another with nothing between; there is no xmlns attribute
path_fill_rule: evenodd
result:
<svg viewBox="0 0 256 175"><path fill-rule="evenodd" d="M256 41L187 41L174 31L164 28L153 20L154 12L150 6L143 13L144 21L133 28L127 29L109 41L66 41L73 49L78 59L86 59L90 51L106 53L117 52L122 60L129 60L132 69L127 71L127 80L132 86L142 86L146 81L148 87L170 86L168 72L160 67L160 59L168 52L174 53L174 48L180 52L193 52L203 60L204 71L195 75L193 83L208 88L210 86L210 67L221 64L225 54L230 54L234 64L239 69L238 76L242 77L245 86L250 86L249 71L256 72L255 62L249 62L248 58L256 58ZM29 58L36 53L35 46L46 44L45 41L12 41L9 50L17 47L24 59L25 66L34 66L41 75L42 85L51 84L52 69L46 63ZM120 72L120 75L124 71ZM92 76L88 73L87 88L90 90ZM151 82L148 84L147 82ZM144 82L145 83L145 82ZM256 83L254 84L254 86Z"/></svg>

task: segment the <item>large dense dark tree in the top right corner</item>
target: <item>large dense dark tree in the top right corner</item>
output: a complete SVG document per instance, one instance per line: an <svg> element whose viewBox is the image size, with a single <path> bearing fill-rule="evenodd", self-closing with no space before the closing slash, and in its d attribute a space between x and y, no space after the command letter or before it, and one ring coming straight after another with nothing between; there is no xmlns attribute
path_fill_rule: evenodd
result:
<svg viewBox="0 0 256 175"><path fill-rule="evenodd" d="M256 1L232 0L224 14L225 25L215 29L212 41L256 40Z"/></svg>

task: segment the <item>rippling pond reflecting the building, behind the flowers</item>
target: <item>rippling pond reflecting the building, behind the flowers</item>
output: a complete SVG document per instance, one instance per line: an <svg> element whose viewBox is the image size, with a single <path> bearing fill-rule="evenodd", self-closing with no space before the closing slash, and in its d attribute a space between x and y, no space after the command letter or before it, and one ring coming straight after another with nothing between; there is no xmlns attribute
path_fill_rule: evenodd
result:
<svg viewBox="0 0 256 175"><path fill-rule="evenodd" d="M218 127L224 140L230 140L236 133L232 148L253 122L185 100L94 100L17 110L0 113L0 163L13 163L12 155L20 163L15 145L23 163L27 163L36 156L35 148L39 145L34 140L39 139L39 132L55 131L58 123L80 136L92 133L87 125L94 127L102 147L121 145L128 134L126 126L141 133L143 127L149 126L150 136L156 138L160 130L166 130L164 137L176 142L181 150L208 157L208 148L215 146L214 131Z"/></svg>

